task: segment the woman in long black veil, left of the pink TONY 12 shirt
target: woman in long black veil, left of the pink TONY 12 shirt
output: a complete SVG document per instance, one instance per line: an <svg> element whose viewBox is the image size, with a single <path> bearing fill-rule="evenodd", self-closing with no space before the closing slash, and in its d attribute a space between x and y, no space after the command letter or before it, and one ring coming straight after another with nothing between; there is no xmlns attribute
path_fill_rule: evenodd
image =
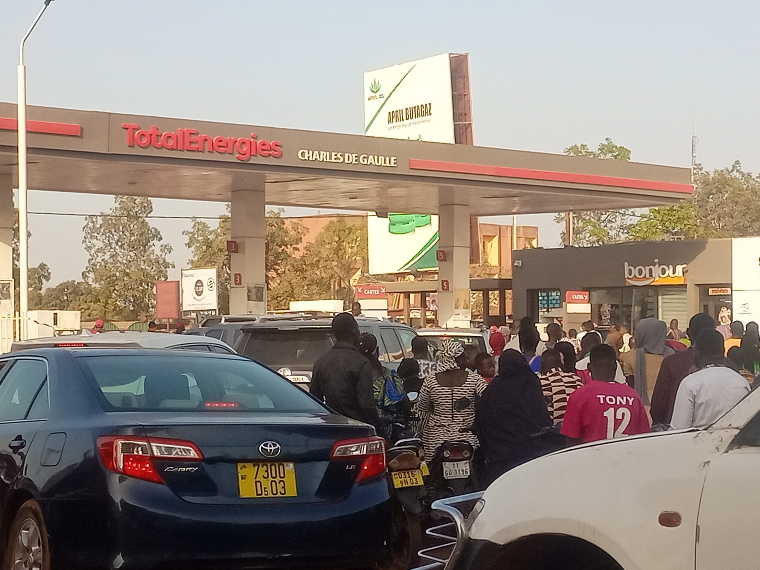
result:
<svg viewBox="0 0 760 570"><path fill-rule="evenodd" d="M475 410L475 429L486 456L485 483L556 445L534 437L552 420L538 376L517 350L499 356L499 374L483 392Z"/></svg>

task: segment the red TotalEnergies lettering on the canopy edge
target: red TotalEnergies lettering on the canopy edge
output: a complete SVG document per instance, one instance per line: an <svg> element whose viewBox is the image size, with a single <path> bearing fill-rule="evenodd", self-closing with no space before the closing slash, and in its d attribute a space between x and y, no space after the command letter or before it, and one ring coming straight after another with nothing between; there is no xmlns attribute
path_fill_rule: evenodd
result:
<svg viewBox="0 0 760 570"><path fill-rule="evenodd" d="M156 125L150 125L145 130L140 125L122 123L127 131L127 146L135 144L141 148L154 147L166 150L186 150L188 152L203 152L234 154L237 160L249 160L250 157L280 158L283 155L280 141L257 140L256 133L251 138L212 137L198 135L197 128L178 128L176 131L161 132Z"/></svg>

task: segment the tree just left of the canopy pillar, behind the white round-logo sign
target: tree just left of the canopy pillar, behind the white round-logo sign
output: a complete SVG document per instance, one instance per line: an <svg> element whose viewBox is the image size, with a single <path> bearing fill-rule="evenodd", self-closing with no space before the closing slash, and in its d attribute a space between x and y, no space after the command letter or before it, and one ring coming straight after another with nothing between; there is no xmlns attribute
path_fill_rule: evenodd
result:
<svg viewBox="0 0 760 570"><path fill-rule="evenodd" d="M227 211L230 205L227 204ZM191 268L217 268L217 291L219 311L223 315L230 312L230 254L227 240L230 239L230 216L220 217L219 225L211 229L204 220L192 220L190 230L182 232L187 237L185 246L192 251L188 261Z"/></svg>

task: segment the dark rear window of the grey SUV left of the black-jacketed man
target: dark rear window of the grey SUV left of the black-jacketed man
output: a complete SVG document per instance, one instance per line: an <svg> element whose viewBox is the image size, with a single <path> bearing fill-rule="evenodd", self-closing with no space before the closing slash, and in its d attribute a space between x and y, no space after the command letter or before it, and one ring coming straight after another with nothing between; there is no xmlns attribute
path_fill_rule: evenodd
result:
<svg viewBox="0 0 760 570"><path fill-rule="evenodd" d="M328 327L322 328L255 328L245 331L248 341L243 354L277 369L281 366L309 371L314 363L333 346Z"/></svg>

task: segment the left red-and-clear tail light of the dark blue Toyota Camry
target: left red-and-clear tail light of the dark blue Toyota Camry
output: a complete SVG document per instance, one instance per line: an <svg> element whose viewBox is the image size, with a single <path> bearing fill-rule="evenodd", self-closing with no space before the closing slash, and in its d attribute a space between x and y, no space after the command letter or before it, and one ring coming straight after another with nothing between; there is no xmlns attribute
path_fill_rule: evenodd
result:
<svg viewBox="0 0 760 570"><path fill-rule="evenodd" d="M154 459L203 461L198 446L181 439L103 435L97 439L97 448L107 470L162 485L166 483L156 469Z"/></svg>

